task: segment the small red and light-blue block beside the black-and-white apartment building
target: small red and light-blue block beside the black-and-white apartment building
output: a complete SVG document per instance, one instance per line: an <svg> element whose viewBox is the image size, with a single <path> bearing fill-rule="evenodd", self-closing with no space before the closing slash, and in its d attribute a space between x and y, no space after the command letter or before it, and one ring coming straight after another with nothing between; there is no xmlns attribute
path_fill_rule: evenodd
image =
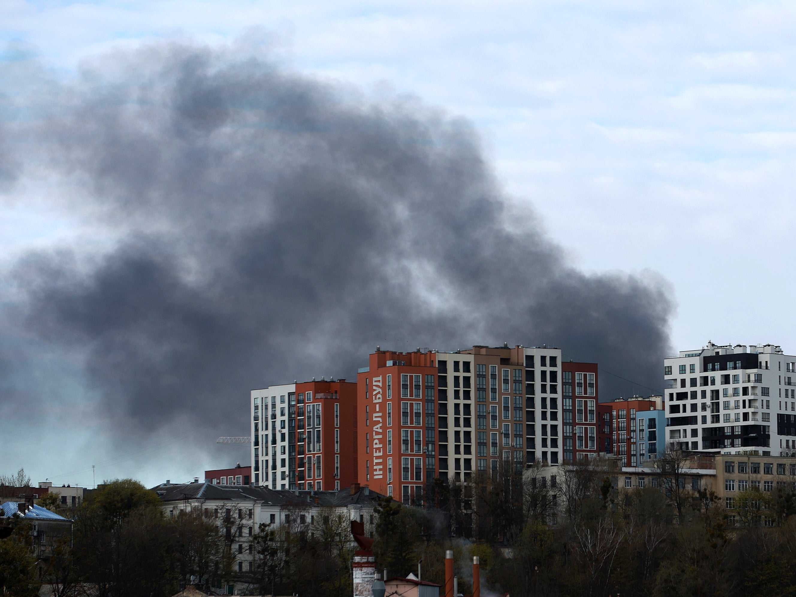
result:
<svg viewBox="0 0 796 597"><path fill-rule="evenodd" d="M597 405L599 451L622 458L622 466L641 466L665 451L662 396L618 398Z"/></svg>

